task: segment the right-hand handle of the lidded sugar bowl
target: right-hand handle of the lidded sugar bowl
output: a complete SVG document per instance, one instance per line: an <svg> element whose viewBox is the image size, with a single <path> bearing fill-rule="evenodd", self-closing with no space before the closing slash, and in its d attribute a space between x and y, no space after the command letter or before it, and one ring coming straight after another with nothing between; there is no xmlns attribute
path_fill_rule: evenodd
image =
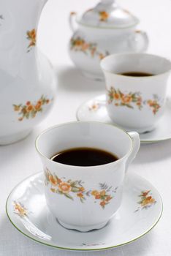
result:
<svg viewBox="0 0 171 256"><path fill-rule="evenodd" d="M148 35L145 31L135 30L134 34L129 37L129 46L137 53L147 50L148 44Z"/></svg>

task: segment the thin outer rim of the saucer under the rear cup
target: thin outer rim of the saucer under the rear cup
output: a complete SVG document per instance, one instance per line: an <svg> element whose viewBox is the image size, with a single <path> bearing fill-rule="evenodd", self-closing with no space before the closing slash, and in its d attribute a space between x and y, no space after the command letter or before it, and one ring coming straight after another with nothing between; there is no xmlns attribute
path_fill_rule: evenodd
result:
<svg viewBox="0 0 171 256"><path fill-rule="evenodd" d="M84 102L82 102L82 103L79 105L79 107L77 108L77 111L76 111L76 113L75 113L75 116L76 116L77 121L81 121L80 118L79 118L79 116L78 116L78 113L79 113L79 110L80 110L81 108L83 108L84 105L86 105L86 103L88 103L88 102L90 102L91 100L96 99L96 98L98 98L98 97L102 97L102 96L104 96L104 95L105 95L105 94L98 94L98 95L96 95L96 96L94 96L94 97L91 97L91 98L85 100ZM171 99L171 98L167 96L167 99ZM96 122L104 123L103 121L96 121ZM120 127L118 124L107 123L107 122L106 122L106 124L113 124L115 127L118 127L118 128L123 129L123 128ZM124 129L123 129L123 130L124 130ZM167 138L161 138L161 139L158 139L158 140L143 140L143 139L140 138L140 143L141 143L141 144L152 144L152 143L160 143L161 141L165 141L165 140L171 140L171 133L170 133L170 138L167 137Z"/></svg>

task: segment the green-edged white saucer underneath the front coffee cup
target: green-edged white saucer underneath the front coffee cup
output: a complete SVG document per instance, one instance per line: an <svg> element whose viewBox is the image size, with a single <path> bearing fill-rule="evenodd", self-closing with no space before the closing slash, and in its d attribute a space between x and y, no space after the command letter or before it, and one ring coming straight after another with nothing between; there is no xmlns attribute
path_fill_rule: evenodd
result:
<svg viewBox="0 0 171 256"><path fill-rule="evenodd" d="M112 249L141 238L161 217L159 192L144 178L129 173L121 208L105 227L87 233L67 230L47 208L44 182L41 172L18 184L7 198L6 211L20 233L47 246L77 251Z"/></svg>

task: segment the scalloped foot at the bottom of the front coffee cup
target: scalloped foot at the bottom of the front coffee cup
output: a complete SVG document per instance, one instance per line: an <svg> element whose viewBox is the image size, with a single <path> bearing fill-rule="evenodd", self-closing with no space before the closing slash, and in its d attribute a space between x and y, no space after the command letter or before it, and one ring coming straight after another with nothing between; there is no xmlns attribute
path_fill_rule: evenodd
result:
<svg viewBox="0 0 171 256"><path fill-rule="evenodd" d="M65 227L66 229L69 229L69 230L78 230L80 232L88 232L88 231L91 231L91 230L99 230L101 229L102 227L104 227L105 225L107 225L107 222L102 222L98 225L90 225L90 226L77 226L77 225L69 225L69 224L66 224L64 222L61 222L60 219L58 219L58 222L61 224L62 227Z"/></svg>

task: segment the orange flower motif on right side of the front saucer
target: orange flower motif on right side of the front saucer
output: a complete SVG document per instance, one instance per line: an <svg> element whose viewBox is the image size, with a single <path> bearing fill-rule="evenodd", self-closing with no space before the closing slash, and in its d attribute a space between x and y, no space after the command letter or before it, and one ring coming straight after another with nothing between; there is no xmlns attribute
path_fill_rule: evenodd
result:
<svg viewBox="0 0 171 256"><path fill-rule="evenodd" d="M156 200L152 196L151 190L142 191L139 197L140 201L138 201L137 203L140 204L140 206L137 208L136 211L150 208L156 203Z"/></svg>

